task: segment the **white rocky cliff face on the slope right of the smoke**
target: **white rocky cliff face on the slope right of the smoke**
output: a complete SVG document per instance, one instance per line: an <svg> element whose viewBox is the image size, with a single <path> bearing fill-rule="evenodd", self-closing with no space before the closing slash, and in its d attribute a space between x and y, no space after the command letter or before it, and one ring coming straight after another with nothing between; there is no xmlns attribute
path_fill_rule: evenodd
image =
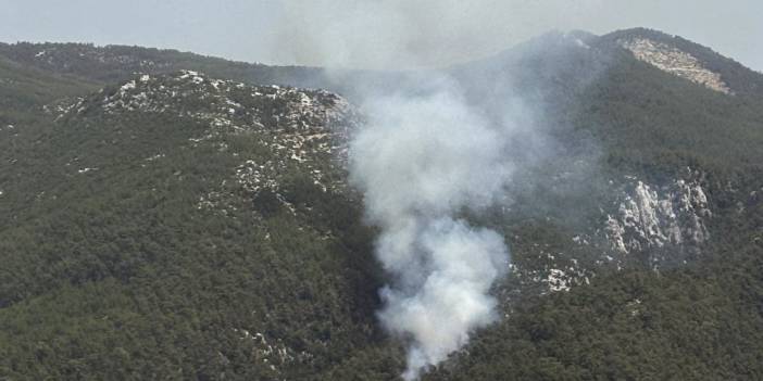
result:
<svg viewBox="0 0 763 381"><path fill-rule="evenodd" d="M604 230L616 252L628 254L667 244L696 247L709 239L705 219L712 212L698 180L679 179L655 189L637 181L617 213L608 215Z"/></svg>

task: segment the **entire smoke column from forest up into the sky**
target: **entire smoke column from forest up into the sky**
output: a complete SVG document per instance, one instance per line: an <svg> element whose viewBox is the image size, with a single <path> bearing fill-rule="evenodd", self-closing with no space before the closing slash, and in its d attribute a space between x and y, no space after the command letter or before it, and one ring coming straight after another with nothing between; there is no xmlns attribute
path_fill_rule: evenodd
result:
<svg viewBox="0 0 763 381"><path fill-rule="evenodd" d="M485 25L504 25L497 13L456 0L286 2L275 46L299 63L334 67L445 66L474 55L475 41L490 35ZM445 41L458 52L443 53ZM510 93L498 78L472 79ZM380 228L375 250L389 281L378 318L408 344L402 376L415 380L499 317L489 292L509 268L509 250L499 233L461 216L504 194L514 172L509 142L527 131L506 122L522 115L484 115L442 72L408 73L392 91L355 85L367 123L350 142L350 181ZM489 100L499 113L516 109L503 102Z"/></svg>

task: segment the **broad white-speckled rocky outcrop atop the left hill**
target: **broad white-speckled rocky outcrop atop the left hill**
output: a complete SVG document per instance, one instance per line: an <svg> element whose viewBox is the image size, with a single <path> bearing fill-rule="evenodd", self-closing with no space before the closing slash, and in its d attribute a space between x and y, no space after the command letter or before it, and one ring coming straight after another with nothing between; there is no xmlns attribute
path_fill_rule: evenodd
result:
<svg viewBox="0 0 763 381"><path fill-rule="evenodd" d="M222 214L235 208L233 200L240 191L255 198L266 190L290 208L280 188L295 172L305 174L323 191L343 188L346 181L337 173L346 163L348 135L359 120L354 109L329 91L250 86L193 71L140 74L95 96L51 104L47 111L58 119L161 114L203 126L189 129L184 145L213 147L239 163L229 179L199 199L198 208ZM233 148L234 140L243 137L259 147L259 155ZM157 152L141 158L140 165L161 160L164 153Z"/></svg>

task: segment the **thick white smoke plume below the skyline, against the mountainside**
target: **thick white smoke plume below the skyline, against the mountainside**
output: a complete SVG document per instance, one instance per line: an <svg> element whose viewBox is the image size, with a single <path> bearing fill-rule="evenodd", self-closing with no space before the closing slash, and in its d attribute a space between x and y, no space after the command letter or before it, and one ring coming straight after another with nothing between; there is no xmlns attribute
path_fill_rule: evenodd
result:
<svg viewBox="0 0 763 381"><path fill-rule="evenodd" d="M368 123L351 143L351 180L382 228L376 252L392 276L382 323L410 341L406 380L495 321L489 295L508 268L501 236L456 216L490 205L512 173L505 129L465 105L450 87L365 105Z"/></svg>

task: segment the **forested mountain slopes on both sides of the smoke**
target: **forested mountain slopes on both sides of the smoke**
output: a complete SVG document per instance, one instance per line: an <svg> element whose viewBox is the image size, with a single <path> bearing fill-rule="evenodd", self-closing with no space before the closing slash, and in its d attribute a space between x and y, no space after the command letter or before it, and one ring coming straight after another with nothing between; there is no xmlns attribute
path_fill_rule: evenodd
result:
<svg viewBox="0 0 763 381"><path fill-rule="evenodd" d="M517 141L514 200L468 217L512 249L504 317L425 379L761 378L763 75L648 29L447 72L554 154ZM0 379L396 379L349 89L415 76L325 74L0 46Z"/></svg>

